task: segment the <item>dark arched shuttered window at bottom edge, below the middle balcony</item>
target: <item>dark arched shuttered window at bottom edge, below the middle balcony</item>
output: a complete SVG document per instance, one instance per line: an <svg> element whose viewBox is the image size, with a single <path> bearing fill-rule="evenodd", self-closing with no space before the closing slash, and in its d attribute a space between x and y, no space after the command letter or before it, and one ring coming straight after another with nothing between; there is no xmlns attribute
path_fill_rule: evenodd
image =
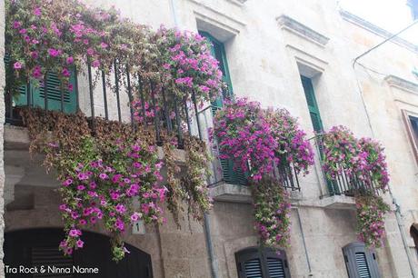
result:
<svg viewBox="0 0 418 278"><path fill-rule="evenodd" d="M290 277L286 253L257 247L235 253L239 278L287 278Z"/></svg>

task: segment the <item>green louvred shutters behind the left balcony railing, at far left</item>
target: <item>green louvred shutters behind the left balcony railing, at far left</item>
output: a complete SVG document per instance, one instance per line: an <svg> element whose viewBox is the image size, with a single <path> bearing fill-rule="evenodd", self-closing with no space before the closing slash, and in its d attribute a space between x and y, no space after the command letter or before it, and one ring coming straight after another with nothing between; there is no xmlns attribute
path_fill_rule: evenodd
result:
<svg viewBox="0 0 418 278"><path fill-rule="evenodd" d="M9 65L8 55L5 55L5 66ZM61 81L58 79L57 74L50 73L46 78L48 110L61 110L65 113L75 113L76 111L76 93L75 85L75 71L72 71L70 76L70 84L73 85L74 91L70 92L67 89L63 90L62 101L63 107L61 107ZM20 94L14 94L14 103L16 106L25 106L28 104L28 92L29 87L29 100L30 104L35 107L45 107L45 88L42 85L35 86L35 83L30 83L29 86L22 85L18 92Z"/></svg>

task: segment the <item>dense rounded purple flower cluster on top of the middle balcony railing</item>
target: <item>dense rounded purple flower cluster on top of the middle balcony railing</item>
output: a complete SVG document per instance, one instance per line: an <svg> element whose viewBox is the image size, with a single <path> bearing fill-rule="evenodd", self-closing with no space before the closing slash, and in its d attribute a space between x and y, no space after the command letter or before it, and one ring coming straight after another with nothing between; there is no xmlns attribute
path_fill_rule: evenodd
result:
<svg viewBox="0 0 418 278"><path fill-rule="evenodd" d="M284 109L261 108L258 102L238 98L226 102L214 117L214 129L221 158L232 159L254 180L272 174L280 162L294 164L297 173L308 173L314 152L297 121Z"/></svg>

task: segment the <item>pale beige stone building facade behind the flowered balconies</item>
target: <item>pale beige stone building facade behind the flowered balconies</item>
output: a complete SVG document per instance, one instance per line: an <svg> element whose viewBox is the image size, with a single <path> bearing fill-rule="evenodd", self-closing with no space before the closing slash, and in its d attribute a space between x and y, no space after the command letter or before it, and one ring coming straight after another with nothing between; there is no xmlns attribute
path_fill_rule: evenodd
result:
<svg viewBox="0 0 418 278"><path fill-rule="evenodd" d="M87 2L115 5L122 15L154 29L163 24L212 35L224 45L234 95L247 96L265 107L288 109L312 137L314 127L301 75L308 78L325 130L343 124L354 134L371 136L385 146L392 195L384 198L389 204L394 199L397 205L387 215L387 240L373 253L373 260L381 277L418 277L418 246L411 232L413 224L418 225L418 125L414 125L418 78L412 73L418 65L418 45L395 37L353 65L355 57L391 34L341 10L334 0ZM4 24L0 27L3 32ZM3 44L2 39L0 49ZM1 67L2 87L4 75ZM79 80L80 92L87 92L83 90L85 76ZM0 95L0 112L4 112ZM80 107L89 114L87 94L80 94ZM103 104L95 103L95 111L103 114ZM114 109L110 114L115 115ZM127 111L124 116L128 115ZM0 116L3 123L4 113ZM211 117L204 114L200 121L210 126ZM1 134L5 195L0 207L5 201L5 233L62 227L56 209L58 184L45 174L40 160L30 159L25 129L6 124ZM245 186L223 182L217 166L211 181L214 208L205 227L184 217L181 229L169 220L163 226L146 227L144 234L126 234L127 243L151 255L154 277L241 277L236 262L239 252L258 246L251 196ZM0 184L2 172L0 163ZM291 246L284 251L287 268L292 277L348 277L343 247L357 242L353 197L329 193L318 160L311 172L299 177L301 190L291 193ZM94 232L101 233L100 229Z"/></svg>

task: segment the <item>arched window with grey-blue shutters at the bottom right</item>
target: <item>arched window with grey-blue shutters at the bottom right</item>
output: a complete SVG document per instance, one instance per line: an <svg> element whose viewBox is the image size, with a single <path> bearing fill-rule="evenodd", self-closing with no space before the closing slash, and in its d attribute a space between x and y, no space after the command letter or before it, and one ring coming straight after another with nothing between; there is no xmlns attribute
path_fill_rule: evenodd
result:
<svg viewBox="0 0 418 278"><path fill-rule="evenodd" d="M350 278L380 278L376 254L364 243L350 243L343 247L343 256Z"/></svg>

